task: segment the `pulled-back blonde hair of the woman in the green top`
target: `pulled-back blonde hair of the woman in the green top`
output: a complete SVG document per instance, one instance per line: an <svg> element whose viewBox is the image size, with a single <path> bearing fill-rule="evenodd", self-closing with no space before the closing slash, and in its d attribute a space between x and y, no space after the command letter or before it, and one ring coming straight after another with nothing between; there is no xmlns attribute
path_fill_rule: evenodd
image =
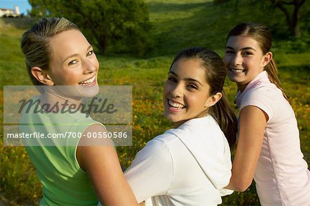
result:
<svg viewBox="0 0 310 206"><path fill-rule="evenodd" d="M31 73L35 66L48 70L52 53L50 52L50 38L66 30L79 30L79 28L63 17L43 17L38 23L32 25L30 30L23 33L21 51L25 56L25 64L34 85L43 85Z"/></svg>

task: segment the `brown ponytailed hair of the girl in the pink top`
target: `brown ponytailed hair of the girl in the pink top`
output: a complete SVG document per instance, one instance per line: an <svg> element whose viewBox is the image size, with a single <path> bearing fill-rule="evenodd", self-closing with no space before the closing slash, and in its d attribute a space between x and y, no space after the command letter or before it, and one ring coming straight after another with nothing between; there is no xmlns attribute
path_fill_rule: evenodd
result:
<svg viewBox="0 0 310 206"><path fill-rule="evenodd" d="M257 41L260 45L263 54L270 52L272 44L272 35L269 29L260 23L240 23L230 30L227 35L226 42L232 36L246 36ZM281 91L285 99L288 99L287 94L282 89L280 79L278 77L278 68L276 63L271 61L265 65L264 70L268 73L268 78L271 83L275 84Z"/></svg>

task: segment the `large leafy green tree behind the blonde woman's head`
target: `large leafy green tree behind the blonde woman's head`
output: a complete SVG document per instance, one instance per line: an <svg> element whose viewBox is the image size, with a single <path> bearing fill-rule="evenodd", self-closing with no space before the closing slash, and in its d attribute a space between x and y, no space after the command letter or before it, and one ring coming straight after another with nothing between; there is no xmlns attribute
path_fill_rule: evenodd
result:
<svg viewBox="0 0 310 206"><path fill-rule="evenodd" d="M99 49L118 47L143 55L152 49L151 23L142 0L29 0L34 17L65 17Z"/></svg>

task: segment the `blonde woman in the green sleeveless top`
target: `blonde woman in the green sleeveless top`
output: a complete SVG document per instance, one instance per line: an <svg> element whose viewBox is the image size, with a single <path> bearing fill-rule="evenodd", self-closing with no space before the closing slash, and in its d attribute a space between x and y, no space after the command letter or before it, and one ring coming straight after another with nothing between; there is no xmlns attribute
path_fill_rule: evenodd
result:
<svg viewBox="0 0 310 206"><path fill-rule="evenodd" d="M34 85L52 91L56 86L99 92L99 62L92 45L77 26L65 18L43 17L23 34L21 50ZM42 92L41 105L65 103L79 105L79 91ZM25 133L81 133L82 138L65 138L66 146L28 146L26 150L43 185L40 205L137 205L132 189L121 170L114 146L82 146L86 135L106 132L105 127L81 112L54 110L23 114ZM43 144L37 140L38 144Z"/></svg>

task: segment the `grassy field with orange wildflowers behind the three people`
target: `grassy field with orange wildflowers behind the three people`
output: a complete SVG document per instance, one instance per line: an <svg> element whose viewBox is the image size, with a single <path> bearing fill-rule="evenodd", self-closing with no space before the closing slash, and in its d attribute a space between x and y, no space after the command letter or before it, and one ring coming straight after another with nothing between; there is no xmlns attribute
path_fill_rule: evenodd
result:
<svg viewBox="0 0 310 206"><path fill-rule="evenodd" d="M274 59L279 68L282 87L289 95L289 101L298 119L304 158L310 163L310 21L307 16L310 13L309 1L301 11L300 27L303 32L300 40L287 37L282 12L271 11L267 7L253 9L251 1L239 1L238 7L235 6L235 1L218 6L203 0L146 2L149 6L150 20L154 25L150 34L156 41L154 51L145 58L136 58L128 54L98 55L99 85L133 86L133 146L117 148L124 167L130 165L136 152L141 150L149 139L172 126L162 116L161 96L169 65L178 50L203 45L223 56L227 32L241 21L265 23L274 34L272 49ZM30 23L29 19L0 19L2 86L31 85L19 48L21 35ZM233 104L236 86L226 81L225 90ZM3 125L3 118L0 121ZM2 140L1 128L0 200L8 205L37 205L41 198L41 185L24 147L3 147ZM223 205L259 205L255 185L251 185L247 192L235 192L231 196L224 197Z"/></svg>

